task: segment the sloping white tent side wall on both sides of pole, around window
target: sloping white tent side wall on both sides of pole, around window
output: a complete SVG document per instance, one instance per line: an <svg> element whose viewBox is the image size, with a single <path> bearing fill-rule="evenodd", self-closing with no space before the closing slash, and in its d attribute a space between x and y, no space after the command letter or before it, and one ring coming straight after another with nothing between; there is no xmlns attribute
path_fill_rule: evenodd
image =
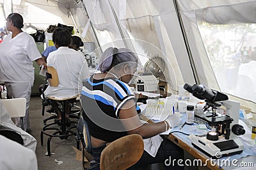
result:
<svg viewBox="0 0 256 170"><path fill-rule="evenodd" d="M92 4L90 4L92 1L84 2L86 8L92 9ZM113 29L116 27L113 21L113 17L116 15L116 22L120 24L119 33L123 34L124 38L131 40L125 39L129 48L136 49L137 52L141 52L147 58L151 58L154 54L161 54L160 56L165 59L168 63L168 69L164 72L171 88L174 90L177 90L177 85L184 84L184 82L195 83L193 71L198 76L197 83L220 90L198 29L198 20L212 24L234 24L252 23L256 19L255 1L177 0L177 8L192 56L192 59L189 59L188 46L186 47L173 1L131 0L125 2L105 0L93 2L100 6L100 10L94 13L94 18L97 18L95 15L104 16L101 21L99 18L95 21L92 19L92 23L95 22L95 28L99 29L101 24L101 27L106 27L108 25L106 24L107 18L108 23L111 24L104 30L108 31L108 40L104 40L104 42L118 40L121 36L115 32L116 29ZM110 10L109 4L113 5L114 11ZM124 7L120 7L122 4L126 6L126 10L124 10ZM112 27L112 29L109 27ZM102 37L102 39L106 38L100 33L97 36ZM101 43L101 41L99 42ZM109 43L109 45L116 46L115 43ZM195 64L195 70L193 71L190 61ZM235 100L240 99L235 98ZM250 105L255 111L253 102L244 102L244 100L240 100L240 102Z"/></svg>

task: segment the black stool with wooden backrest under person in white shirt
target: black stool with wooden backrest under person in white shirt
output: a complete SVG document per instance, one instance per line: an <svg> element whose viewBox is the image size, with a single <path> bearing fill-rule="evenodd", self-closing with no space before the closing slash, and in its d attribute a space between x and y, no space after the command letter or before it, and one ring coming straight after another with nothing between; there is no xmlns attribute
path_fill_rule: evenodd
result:
<svg viewBox="0 0 256 170"><path fill-rule="evenodd" d="M49 79L49 86L58 86L58 74L54 68L47 67L47 71L51 70L51 73L47 72L45 76L45 83L43 86L43 89L45 88L45 85L47 84L47 79ZM52 81L50 81L52 80ZM44 127L42 128L41 131L41 145L43 146L44 144L44 135L49 136L48 141L47 141L47 155L51 156L51 139L52 137L60 137L60 139L67 139L70 135L74 135L76 137L76 129L77 128L77 122L76 121L70 121L70 126L68 126L66 118L65 118L65 113L66 113L66 108L67 105L70 107L74 106L74 102L76 102L76 98L78 97L70 97L70 98L63 98L63 99L58 99L58 98L53 98L53 97L47 97L45 98L44 91L42 92L42 115L44 116L44 110L46 105L51 105L51 102L58 102L61 105L61 122L60 123L49 123L46 124L47 120L51 120L56 118L56 115L51 116L50 118L47 118L47 120L44 120ZM79 148L79 141L77 142L77 148Z"/></svg>

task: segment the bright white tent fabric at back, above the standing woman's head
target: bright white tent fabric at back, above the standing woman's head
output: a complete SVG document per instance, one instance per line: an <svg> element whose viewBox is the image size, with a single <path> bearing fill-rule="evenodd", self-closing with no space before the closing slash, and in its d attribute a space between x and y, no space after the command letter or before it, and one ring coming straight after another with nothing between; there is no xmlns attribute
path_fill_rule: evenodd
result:
<svg viewBox="0 0 256 170"><path fill-rule="evenodd" d="M4 0L4 4L9 3L11 1ZM72 19L68 16L67 8L52 1L20 1L13 3L12 6L6 6L4 6L6 17L11 13L10 8L12 8L13 12L20 13L24 17L25 29L26 27L35 27L45 30L49 25L57 25L58 23L73 25ZM31 15L32 13L33 15Z"/></svg>

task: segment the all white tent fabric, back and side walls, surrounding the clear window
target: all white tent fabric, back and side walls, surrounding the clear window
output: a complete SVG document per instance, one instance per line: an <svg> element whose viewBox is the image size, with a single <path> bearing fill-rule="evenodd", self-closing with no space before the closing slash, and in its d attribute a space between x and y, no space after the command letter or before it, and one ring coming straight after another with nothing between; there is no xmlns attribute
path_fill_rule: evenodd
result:
<svg viewBox="0 0 256 170"><path fill-rule="evenodd" d="M4 10L8 15L12 5L8 0L3 2L6 4ZM128 47L138 52L142 64L157 54L167 65L163 71L170 86L168 89L172 93L177 93L180 84L195 84L195 82L211 89L221 90L221 82L218 82L218 75L214 73L207 56L199 22L212 25L256 23L256 1L252 0L23 0L20 2L19 5L13 4L13 12L22 13L26 26L46 29L49 24L60 22L74 25L76 22L79 31L77 34L86 32L84 41L99 43L101 50L108 47ZM74 16L74 20L68 15L68 10ZM28 15L29 13L35 15ZM89 26L88 30L86 24ZM99 56L101 50L98 50ZM231 95L230 98L239 100L256 112L256 99L244 100L244 97L237 98Z"/></svg>

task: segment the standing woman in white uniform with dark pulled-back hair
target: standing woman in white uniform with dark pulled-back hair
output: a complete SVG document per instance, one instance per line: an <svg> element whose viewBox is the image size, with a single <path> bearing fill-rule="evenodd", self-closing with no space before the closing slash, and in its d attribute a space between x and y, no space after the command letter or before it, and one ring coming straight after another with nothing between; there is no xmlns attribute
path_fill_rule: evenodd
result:
<svg viewBox="0 0 256 170"><path fill-rule="evenodd" d="M11 31L0 44L0 81L3 81L8 97L26 98L26 116L24 130L30 131L29 100L34 82L33 61L45 65L40 52L36 48L32 36L22 31L23 18L19 13L11 13L6 19L6 29ZM15 118L20 127L20 118Z"/></svg>

